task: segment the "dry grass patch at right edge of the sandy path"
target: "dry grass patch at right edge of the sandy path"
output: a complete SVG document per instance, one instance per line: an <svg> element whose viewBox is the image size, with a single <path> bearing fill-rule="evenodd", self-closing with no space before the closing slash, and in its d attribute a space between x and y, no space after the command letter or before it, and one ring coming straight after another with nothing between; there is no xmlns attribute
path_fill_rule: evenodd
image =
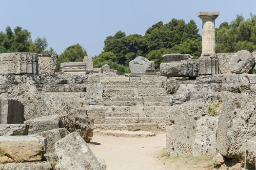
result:
<svg viewBox="0 0 256 170"><path fill-rule="evenodd" d="M213 166L212 156L168 156L167 150L162 149L156 154L170 170L203 170Z"/></svg>

